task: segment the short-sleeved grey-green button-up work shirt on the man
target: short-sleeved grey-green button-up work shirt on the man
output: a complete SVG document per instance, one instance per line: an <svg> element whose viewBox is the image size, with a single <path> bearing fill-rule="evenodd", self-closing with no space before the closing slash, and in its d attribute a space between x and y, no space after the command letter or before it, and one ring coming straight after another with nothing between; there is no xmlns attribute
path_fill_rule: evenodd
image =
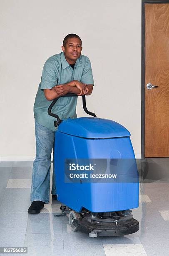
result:
<svg viewBox="0 0 169 256"><path fill-rule="evenodd" d="M66 61L64 52L47 59L34 103L34 117L38 123L56 131L54 126L56 118L47 114L52 101L46 99L43 89L51 89L56 85L66 84L72 80L78 80L83 84L94 84L91 63L87 56L80 55L76 60L74 69ZM62 120L77 118L76 104L77 97L60 97L53 106L52 113L57 114Z"/></svg>

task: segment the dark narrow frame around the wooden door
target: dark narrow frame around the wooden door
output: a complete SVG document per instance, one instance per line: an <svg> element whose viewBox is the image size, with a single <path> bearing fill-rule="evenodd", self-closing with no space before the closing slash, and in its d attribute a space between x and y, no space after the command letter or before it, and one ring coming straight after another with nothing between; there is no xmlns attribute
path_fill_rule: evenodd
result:
<svg viewBox="0 0 169 256"><path fill-rule="evenodd" d="M142 106L141 106L141 154L145 158L145 4L169 3L169 0L142 0Z"/></svg>

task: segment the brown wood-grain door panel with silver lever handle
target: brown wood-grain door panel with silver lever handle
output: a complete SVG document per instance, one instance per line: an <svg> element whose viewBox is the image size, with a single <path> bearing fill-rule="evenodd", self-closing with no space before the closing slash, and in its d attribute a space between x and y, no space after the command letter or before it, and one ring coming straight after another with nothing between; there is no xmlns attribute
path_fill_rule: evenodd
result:
<svg viewBox="0 0 169 256"><path fill-rule="evenodd" d="M144 145L145 157L169 157L169 3L145 4Z"/></svg>

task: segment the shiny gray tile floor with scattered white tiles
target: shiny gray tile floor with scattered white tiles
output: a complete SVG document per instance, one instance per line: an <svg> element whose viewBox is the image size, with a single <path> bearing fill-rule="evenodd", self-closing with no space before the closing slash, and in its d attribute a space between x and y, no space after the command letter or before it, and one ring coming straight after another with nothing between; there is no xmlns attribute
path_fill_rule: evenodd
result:
<svg viewBox="0 0 169 256"><path fill-rule="evenodd" d="M169 158L147 160L148 179L140 183L139 208L133 209L140 229L123 237L73 232L67 216L54 217L60 204L52 198L40 214L28 215L32 164L0 162L0 247L26 246L29 256L169 256Z"/></svg>

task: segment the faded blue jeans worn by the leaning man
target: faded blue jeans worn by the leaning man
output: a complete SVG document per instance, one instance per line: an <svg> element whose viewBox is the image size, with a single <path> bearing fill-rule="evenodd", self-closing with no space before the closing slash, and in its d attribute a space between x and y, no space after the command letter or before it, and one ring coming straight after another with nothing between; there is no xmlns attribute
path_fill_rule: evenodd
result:
<svg viewBox="0 0 169 256"><path fill-rule="evenodd" d="M36 159L33 162L30 200L49 203L50 200L50 164L52 148L54 150L55 131L35 121ZM53 154L54 157L54 154ZM53 158L52 194L56 195L55 169Z"/></svg>

